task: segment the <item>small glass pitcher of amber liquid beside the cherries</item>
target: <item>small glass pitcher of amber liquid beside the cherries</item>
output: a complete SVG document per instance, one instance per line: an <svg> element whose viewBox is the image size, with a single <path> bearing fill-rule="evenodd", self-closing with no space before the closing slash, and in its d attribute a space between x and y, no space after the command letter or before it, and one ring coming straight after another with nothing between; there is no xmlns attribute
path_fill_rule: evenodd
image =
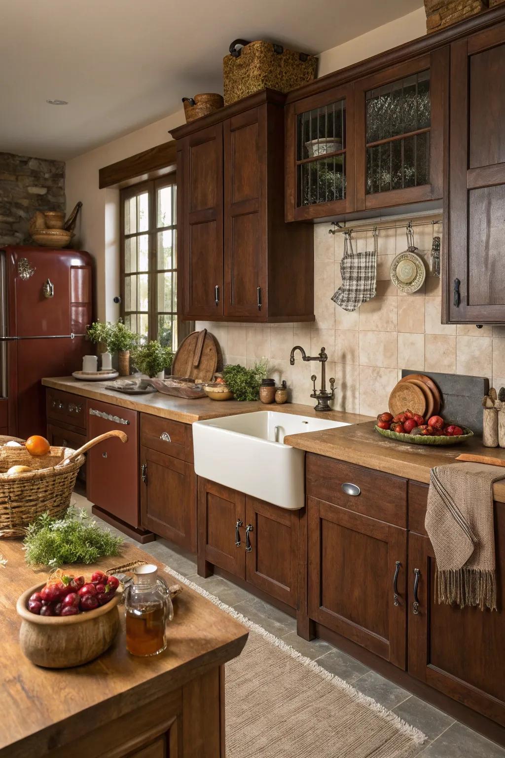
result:
<svg viewBox="0 0 505 758"><path fill-rule="evenodd" d="M167 622L173 619L170 590L154 564L133 569L124 591L126 649L133 656L157 656L167 647Z"/></svg>

